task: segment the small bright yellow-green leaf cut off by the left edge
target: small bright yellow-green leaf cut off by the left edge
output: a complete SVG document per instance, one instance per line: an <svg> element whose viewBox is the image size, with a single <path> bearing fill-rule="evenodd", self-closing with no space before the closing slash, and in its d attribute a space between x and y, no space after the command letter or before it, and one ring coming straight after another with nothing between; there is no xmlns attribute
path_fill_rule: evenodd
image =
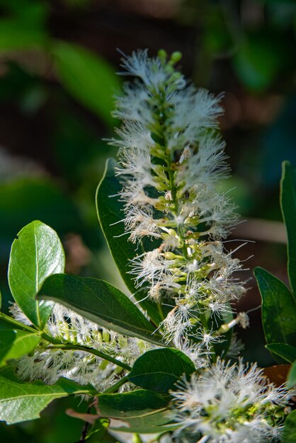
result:
<svg viewBox="0 0 296 443"><path fill-rule="evenodd" d="M40 342L39 333L28 333L23 330L0 330L0 367L9 359L22 357L33 351Z"/></svg>

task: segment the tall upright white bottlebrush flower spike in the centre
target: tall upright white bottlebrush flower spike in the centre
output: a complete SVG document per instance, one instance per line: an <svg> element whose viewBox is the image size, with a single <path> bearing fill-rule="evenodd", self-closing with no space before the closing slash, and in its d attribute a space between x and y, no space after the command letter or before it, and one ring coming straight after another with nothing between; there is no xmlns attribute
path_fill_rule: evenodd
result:
<svg viewBox="0 0 296 443"><path fill-rule="evenodd" d="M168 343L182 348L193 338L210 352L222 340L218 323L229 323L231 304L246 289L233 277L241 263L222 243L237 214L217 192L229 174L217 122L221 97L187 84L174 68L179 59L173 53L168 61L163 51L123 59L125 74L137 80L116 98L123 126L110 143L119 147L125 233L156 245L132 260L136 287L173 308L161 324Z"/></svg>

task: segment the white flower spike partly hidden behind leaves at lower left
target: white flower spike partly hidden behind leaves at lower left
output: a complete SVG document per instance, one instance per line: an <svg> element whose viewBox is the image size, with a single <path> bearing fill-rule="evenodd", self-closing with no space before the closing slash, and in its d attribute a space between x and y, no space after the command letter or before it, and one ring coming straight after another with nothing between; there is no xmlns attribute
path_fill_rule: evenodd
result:
<svg viewBox="0 0 296 443"><path fill-rule="evenodd" d="M11 313L18 321L31 324L18 305L11 306ZM79 384L92 384L98 391L103 391L125 371L112 362L93 355L87 349L75 350L71 345L102 350L125 364L132 364L152 346L137 338L102 328L57 303L52 309L45 331L51 338L57 339L58 343L67 345L63 348L62 345L55 347L48 342L41 342L33 355L16 359L18 376L22 379L42 379L47 384L54 384L63 376Z"/></svg>

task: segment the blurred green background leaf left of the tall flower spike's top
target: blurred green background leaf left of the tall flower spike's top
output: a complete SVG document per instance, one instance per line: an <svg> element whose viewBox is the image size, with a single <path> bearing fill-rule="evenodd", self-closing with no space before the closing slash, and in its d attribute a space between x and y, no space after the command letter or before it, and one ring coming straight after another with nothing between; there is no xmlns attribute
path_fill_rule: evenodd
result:
<svg viewBox="0 0 296 443"><path fill-rule="evenodd" d="M106 60L79 45L56 41L52 54L59 79L70 94L108 125L120 79Z"/></svg>

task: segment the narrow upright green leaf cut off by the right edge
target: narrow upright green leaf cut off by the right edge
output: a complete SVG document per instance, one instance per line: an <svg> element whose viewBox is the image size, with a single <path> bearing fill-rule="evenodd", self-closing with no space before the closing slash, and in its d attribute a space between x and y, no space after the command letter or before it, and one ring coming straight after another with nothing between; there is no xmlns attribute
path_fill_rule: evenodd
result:
<svg viewBox="0 0 296 443"><path fill-rule="evenodd" d="M280 207L288 236L288 277L296 294L296 171L288 161L283 162Z"/></svg>

